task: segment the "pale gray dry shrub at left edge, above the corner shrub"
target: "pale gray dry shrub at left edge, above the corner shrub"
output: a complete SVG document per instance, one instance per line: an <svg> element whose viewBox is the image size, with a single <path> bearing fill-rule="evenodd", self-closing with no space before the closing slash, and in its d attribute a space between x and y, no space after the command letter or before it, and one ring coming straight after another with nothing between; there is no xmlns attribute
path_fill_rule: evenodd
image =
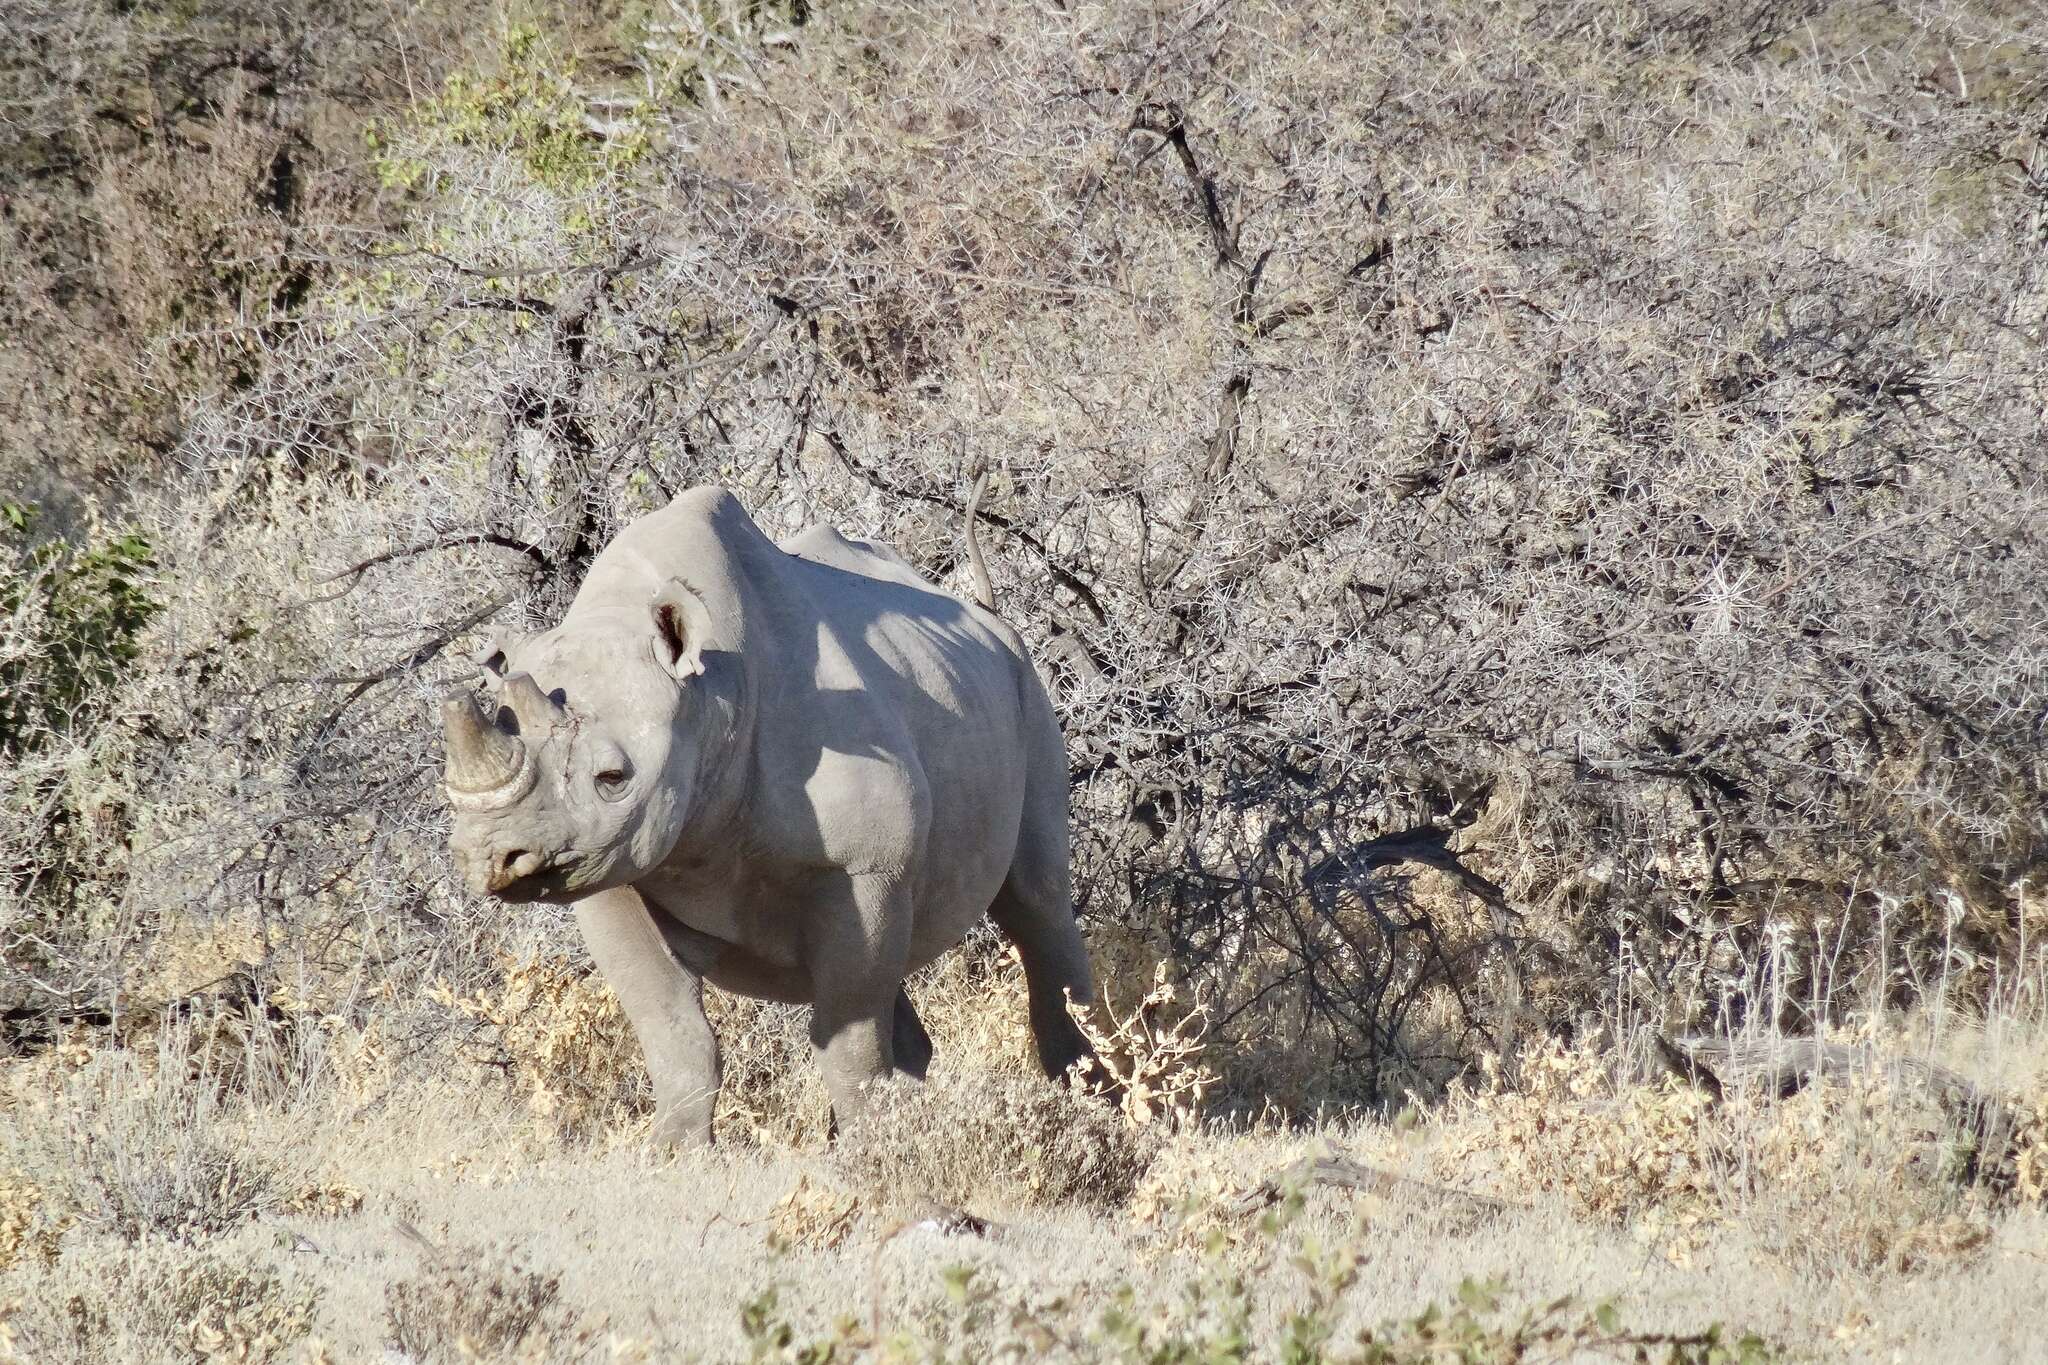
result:
<svg viewBox="0 0 2048 1365"><path fill-rule="evenodd" d="M176 1058L96 1054L0 1115L6 1162L82 1228L129 1242L215 1236L276 1207L289 1158L256 1150L236 1124L244 1101L213 1072L168 1066Z"/></svg>

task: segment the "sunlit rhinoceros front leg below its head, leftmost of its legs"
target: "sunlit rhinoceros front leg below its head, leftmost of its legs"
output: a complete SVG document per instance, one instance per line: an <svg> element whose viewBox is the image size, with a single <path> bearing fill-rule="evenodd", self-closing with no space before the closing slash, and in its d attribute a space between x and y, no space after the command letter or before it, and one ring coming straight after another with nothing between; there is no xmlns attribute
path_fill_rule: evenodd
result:
<svg viewBox="0 0 2048 1365"><path fill-rule="evenodd" d="M655 1144L711 1142L719 1040L705 1017L702 978L676 960L631 886L578 900L575 925L647 1058Z"/></svg>

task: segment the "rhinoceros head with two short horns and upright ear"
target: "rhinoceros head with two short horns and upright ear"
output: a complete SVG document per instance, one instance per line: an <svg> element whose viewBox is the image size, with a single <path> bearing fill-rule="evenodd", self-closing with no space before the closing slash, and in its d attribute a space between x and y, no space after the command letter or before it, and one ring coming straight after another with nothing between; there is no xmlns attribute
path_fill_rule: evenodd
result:
<svg viewBox="0 0 2048 1365"><path fill-rule="evenodd" d="M492 647L489 704L440 706L453 851L477 894L575 900L659 866L690 812L690 684L709 614L672 583L651 610L586 614Z"/></svg>

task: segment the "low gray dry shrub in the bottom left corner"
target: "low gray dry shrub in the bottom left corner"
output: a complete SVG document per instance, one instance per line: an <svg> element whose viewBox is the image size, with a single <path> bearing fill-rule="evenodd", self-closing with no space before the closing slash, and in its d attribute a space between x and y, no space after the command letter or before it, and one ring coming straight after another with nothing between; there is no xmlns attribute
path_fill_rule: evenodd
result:
<svg viewBox="0 0 2048 1365"><path fill-rule="evenodd" d="M254 1259L96 1242L18 1281L14 1355L39 1365L289 1359L319 1291Z"/></svg>

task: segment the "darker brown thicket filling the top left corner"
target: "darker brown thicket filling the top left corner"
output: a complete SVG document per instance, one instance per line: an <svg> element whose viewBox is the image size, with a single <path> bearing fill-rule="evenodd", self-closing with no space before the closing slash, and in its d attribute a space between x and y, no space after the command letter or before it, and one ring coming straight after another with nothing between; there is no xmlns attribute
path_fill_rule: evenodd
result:
<svg viewBox="0 0 2048 1365"><path fill-rule="evenodd" d="M383 227L362 123L463 61L479 14L0 4L0 489L72 526L162 479L190 401L246 383Z"/></svg>

